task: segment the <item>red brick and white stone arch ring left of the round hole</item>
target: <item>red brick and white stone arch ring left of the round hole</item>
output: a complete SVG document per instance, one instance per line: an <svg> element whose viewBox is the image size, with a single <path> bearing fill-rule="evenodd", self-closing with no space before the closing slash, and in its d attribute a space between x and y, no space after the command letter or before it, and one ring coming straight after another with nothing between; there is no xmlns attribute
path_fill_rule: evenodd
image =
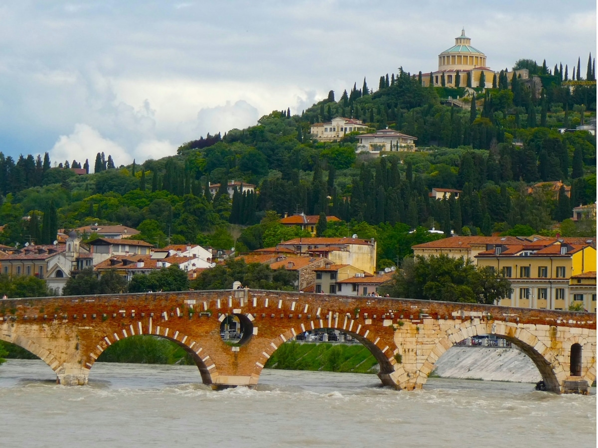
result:
<svg viewBox="0 0 598 448"><path fill-rule="evenodd" d="M112 335L103 336L97 341L96 346L89 352L86 359L86 368L91 370L91 367L93 367L97 358L99 358L109 346L118 343L120 340L127 339L127 337L131 336L154 336L170 340L184 349L185 352L191 356L193 361L195 361L204 384L211 385L216 382L219 375L218 368L207 351L196 340L193 340L188 335L177 330L170 329L169 327L156 326L152 328L149 326L149 331L145 333L143 328L142 322L138 321L136 326L131 324L127 329L120 329L120 334L117 330L117 332L112 333Z"/></svg>

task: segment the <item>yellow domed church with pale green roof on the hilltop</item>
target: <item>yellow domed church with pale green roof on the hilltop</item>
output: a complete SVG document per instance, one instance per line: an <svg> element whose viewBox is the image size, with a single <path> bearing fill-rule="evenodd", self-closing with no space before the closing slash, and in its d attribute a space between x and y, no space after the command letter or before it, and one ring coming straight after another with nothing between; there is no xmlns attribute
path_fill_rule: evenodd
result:
<svg viewBox="0 0 598 448"><path fill-rule="evenodd" d="M462 29L461 35L454 39L454 45L438 55L438 70L422 73L422 85L492 87L495 72L487 67L486 63L486 54L471 46L471 38L468 38L465 29ZM512 75L507 76L510 78ZM483 85L480 85L480 81L483 81Z"/></svg>

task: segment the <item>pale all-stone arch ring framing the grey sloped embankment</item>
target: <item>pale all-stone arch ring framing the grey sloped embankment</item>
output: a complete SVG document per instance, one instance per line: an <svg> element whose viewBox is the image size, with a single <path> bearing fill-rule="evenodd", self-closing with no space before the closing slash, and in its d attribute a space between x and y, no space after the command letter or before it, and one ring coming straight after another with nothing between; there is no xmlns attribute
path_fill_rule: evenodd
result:
<svg viewBox="0 0 598 448"><path fill-rule="evenodd" d="M467 321L456 328L447 330L446 335L438 340L417 373L416 383L419 383L419 385L425 384L438 358L451 346L468 337L477 335L495 335L516 345L538 367L546 390L560 393L560 383L562 383L566 373L563 372L562 365L552 349L527 329L501 321L480 324L472 324L471 321Z"/></svg>

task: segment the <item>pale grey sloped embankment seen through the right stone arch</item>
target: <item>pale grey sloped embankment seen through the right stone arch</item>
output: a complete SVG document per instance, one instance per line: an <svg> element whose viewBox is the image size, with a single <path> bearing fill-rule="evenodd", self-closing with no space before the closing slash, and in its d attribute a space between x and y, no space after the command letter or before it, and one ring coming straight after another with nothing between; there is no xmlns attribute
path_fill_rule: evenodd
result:
<svg viewBox="0 0 598 448"><path fill-rule="evenodd" d="M432 376L521 383L542 379L538 367L517 348L468 346L447 350L435 364Z"/></svg>

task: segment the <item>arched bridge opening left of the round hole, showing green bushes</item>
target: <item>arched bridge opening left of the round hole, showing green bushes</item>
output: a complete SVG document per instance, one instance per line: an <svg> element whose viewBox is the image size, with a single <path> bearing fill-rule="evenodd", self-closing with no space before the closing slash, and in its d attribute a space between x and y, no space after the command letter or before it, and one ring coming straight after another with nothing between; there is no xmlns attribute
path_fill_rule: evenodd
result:
<svg viewBox="0 0 598 448"><path fill-rule="evenodd" d="M97 357L96 362L196 365L202 382L205 384L211 382L208 369L202 358L181 341L166 336L135 335L123 337L106 347ZM90 376L93 378L93 368Z"/></svg>

